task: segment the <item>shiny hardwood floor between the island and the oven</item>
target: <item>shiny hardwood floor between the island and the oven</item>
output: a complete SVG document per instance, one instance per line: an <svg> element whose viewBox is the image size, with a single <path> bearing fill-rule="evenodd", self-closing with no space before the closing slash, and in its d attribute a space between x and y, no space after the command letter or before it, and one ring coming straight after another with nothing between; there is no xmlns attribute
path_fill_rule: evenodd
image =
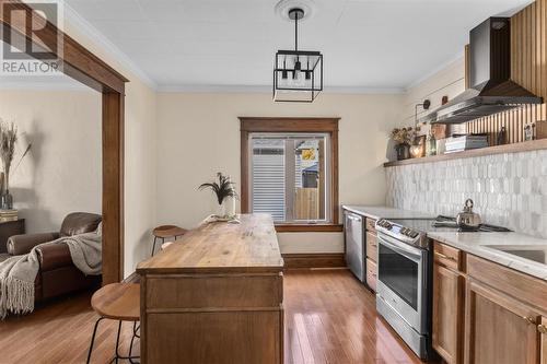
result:
<svg viewBox="0 0 547 364"><path fill-rule="evenodd" d="M421 363L348 270L288 272L283 305L286 364Z"/></svg>

